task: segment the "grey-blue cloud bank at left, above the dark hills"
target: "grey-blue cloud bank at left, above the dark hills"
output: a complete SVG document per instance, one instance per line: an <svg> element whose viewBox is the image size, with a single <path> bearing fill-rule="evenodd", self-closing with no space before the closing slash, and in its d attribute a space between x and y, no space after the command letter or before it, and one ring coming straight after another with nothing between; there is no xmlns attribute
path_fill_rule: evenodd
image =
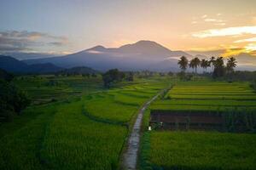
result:
<svg viewBox="0 0 256 170"><path fill-rule="evenodd" d="M29 51L41 46L61 46L66 37L56 37L37 31L0 31L0 51Z"/></svg>

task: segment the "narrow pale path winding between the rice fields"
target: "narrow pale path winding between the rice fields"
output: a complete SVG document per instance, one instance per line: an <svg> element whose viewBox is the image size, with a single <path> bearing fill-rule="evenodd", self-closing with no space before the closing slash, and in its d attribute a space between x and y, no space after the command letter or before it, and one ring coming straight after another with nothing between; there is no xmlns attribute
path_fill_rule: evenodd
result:
<svg viewBox="0 0 256 170"><path fill-rule="evenodd" d="M143 113L148 108L154 99L157 99L161 94L166 94L170 88L166 88L160 93L156 94L152 99L147 103L143 104L142 108L139 110L136 122L134 123L131 131L131 136L128 139L127 150L125 150L123 157L123 168L128 169L137 169L137 155L140 146L140 136L141 136L141 127L143 121Z"/></svg>

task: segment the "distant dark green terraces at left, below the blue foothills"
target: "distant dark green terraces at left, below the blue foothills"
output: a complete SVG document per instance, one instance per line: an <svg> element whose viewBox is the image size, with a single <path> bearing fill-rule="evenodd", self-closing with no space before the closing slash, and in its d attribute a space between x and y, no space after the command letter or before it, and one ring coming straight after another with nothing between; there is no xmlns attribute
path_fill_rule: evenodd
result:
<svg viewBox="0 0 256 170"><path fill-rule="evenodd" d="M91 91L102 90L101 77L55 77L27 76L15 78L15 84L26 90L33 104L45 104L52 100L62 100L81 96Z"/></svg>

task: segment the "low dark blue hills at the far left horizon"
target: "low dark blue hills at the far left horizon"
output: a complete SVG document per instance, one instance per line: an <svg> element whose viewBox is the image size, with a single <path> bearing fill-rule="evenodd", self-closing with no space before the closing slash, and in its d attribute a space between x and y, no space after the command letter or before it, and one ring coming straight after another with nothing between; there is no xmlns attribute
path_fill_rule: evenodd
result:
<svg viewBox="0 0 256 170"><path fill-rule="evenodd" d="M0 55L0 68L14 73L51 73L62 68L51 63L27 65L25 62L10 56Z"/></svg>

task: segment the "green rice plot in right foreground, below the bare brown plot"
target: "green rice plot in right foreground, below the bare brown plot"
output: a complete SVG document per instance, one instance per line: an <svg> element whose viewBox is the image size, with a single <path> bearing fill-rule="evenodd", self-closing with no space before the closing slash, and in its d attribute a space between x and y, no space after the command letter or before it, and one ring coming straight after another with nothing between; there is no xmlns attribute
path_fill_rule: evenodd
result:
<svg viewBox="0 0 256 170"><path fill-rule="evenodd" d="M256 135L153 132L150 160L164 169L255 169Z"/></svg>

